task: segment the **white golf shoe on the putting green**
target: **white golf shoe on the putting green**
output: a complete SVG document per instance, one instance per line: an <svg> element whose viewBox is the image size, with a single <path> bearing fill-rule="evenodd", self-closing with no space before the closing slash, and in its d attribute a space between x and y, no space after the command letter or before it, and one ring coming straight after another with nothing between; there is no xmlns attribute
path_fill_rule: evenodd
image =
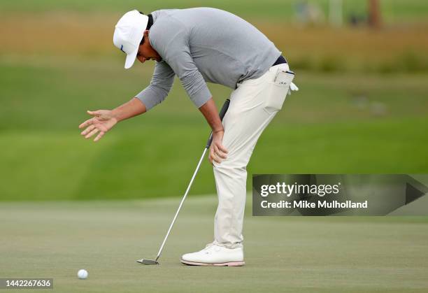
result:
<svg viewBox="0 0 428 293"><path fill-rule="evenodd" d="M186 253L181 257L183 264L192 266L243 266L242 248L225 248L210 243L201 251Z"/></svg>

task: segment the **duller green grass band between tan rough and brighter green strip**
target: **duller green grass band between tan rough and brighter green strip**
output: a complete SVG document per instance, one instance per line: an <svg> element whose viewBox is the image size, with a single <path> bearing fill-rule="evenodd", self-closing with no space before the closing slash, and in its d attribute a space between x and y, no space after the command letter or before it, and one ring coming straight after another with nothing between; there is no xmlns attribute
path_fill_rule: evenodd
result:
<svg viewBox="0 0 428 293"><path fill-rule="evenodd" d="M128 101L148 83L153 64L125 71L123 60L38 58L3 59L0 63L3 130L75 130L86 110L113 108ZM428 101L425 74L309 73L297 71L301 91L289 97L273 123L336 122L425 117ZM217 105L230 89L209 85ZM377 105L380 105L380 110ZM195 125L204 118L178 80L169 97L147 114L120 127ZM207 129L208 130L208 129Z"/></svg>

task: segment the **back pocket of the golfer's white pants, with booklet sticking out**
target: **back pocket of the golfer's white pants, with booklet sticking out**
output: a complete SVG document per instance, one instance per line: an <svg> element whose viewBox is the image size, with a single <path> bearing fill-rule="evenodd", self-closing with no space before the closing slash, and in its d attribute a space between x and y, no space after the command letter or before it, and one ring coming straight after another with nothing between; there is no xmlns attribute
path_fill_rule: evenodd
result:
<svg viewBox="0 0 428 293"><path fill-rule="evenodd" d="M285 97L290 89L294 73L281 69L276 73L275 79L269 81L266 90L264 109L268 113L276 113L283 108Z"/></svg>

